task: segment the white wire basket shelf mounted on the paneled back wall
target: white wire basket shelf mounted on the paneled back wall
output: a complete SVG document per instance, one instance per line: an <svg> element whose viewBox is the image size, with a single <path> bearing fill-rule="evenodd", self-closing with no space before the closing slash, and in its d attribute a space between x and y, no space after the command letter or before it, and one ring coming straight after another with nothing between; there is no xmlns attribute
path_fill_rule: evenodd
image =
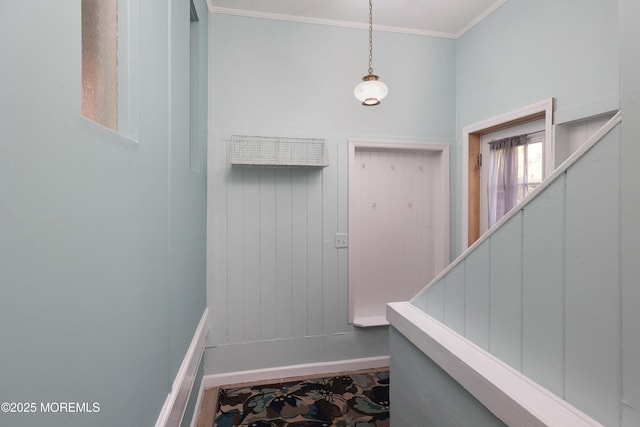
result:
<svg viewBox="0 0 640 427"><path fill-rule="evenodd" d="M233 135L230 161L240 166L326 167L324 139Z"/></svg>

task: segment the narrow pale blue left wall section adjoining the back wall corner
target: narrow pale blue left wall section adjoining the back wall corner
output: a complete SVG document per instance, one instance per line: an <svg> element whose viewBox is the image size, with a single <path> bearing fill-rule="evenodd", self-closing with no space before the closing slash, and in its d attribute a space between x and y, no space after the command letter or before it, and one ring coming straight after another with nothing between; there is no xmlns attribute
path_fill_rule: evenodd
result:
<svg viewBox="0 0 640 427"><path fill-rule="evenodd" d="M193 0L170 5L169 260L171 380L206 308L206 139L208 8ZM194 48L190 49L190 45ZM190 67L196 70L191 71ZM195 99L191 99L191 98ZM195 107L195 111L193 109ZM197 387L197 385L196 385ZM197 390L196 390L197 391Z"/></svg>

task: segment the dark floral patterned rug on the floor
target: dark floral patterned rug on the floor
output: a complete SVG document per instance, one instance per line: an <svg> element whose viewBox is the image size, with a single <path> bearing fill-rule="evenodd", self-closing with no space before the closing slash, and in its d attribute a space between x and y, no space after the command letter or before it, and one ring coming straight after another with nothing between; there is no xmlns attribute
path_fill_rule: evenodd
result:
<svg viewBox="0 0 640 427"><path fill-rule="evenodd" d="M220 389L215 427L388 427L389 371Z"/></svg>

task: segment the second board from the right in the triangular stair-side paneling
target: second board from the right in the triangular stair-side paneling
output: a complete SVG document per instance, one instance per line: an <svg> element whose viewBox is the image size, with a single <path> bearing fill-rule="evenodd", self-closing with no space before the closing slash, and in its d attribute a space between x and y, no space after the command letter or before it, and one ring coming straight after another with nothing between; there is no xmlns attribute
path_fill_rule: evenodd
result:
<svg viewBox="0 0 640 427"><path fill-rule="evenodd" d="M565 176L524 211L522 372L564 396Z"/></svg>

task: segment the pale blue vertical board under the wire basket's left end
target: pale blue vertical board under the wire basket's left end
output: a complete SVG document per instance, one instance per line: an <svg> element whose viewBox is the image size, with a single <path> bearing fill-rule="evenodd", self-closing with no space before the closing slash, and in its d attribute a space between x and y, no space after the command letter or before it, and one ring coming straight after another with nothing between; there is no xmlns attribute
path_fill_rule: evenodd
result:
<svg viewBox="0 0 640 427"><path fill-rule="evenodd" d="M244 340L244 210L243 169L233 168L227 178L227 339ZM242 319L242 321L238 321Z"/></svg>

